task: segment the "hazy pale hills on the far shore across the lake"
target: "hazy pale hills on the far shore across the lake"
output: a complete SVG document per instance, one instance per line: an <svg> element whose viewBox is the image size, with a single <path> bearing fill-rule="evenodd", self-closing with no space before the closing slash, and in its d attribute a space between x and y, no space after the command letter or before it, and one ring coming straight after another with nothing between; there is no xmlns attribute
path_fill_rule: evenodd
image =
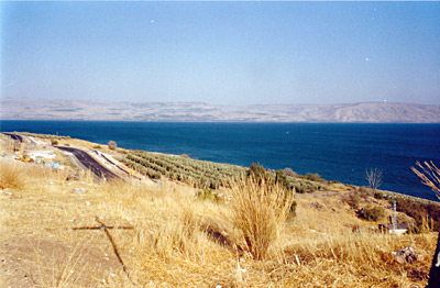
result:
<svg viewBox="0 0 440 288"><path fill-rule="evenodd" d="M1 98L2 120L440 123L440 107L415 103L211 106Z"/></svg>

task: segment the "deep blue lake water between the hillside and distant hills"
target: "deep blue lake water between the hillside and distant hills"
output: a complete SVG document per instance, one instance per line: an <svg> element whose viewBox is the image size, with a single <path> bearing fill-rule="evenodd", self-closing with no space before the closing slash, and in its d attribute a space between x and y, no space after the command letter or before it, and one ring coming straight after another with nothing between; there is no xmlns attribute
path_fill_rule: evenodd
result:
<svg viewBox="0 0 440 288"><path fill-rule="evenodd" d="M440 166L440 124L1 121L0 131L58 133L100 144L113 140L125 148L290 167L353 185L367 185L365 169L377 167L382 189L437 200L410 167L417 160Z"/></svg>

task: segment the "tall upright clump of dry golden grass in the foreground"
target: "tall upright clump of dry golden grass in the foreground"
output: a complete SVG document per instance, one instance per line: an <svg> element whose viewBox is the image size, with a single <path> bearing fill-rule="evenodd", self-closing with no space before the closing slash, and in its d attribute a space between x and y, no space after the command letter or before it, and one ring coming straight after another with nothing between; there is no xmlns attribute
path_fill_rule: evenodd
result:
<svg viewBox="0 0 440 288"><path fill-rule="evenodd" d="M264 178L250 177L231 189L231 222L238 230L238 245L253 258L263 259L278 236L294 204L294 193Z"/></svg>

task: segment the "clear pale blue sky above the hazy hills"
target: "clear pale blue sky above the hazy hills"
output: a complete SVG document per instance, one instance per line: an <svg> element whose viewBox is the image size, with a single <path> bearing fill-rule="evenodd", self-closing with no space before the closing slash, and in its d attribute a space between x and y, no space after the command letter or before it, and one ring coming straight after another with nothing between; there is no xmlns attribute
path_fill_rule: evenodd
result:
<svg viewBox="0 0 440 288"><path fill-rule="evenodd" d="M440 2L1 2L1 97L440 104Z"/></svg>

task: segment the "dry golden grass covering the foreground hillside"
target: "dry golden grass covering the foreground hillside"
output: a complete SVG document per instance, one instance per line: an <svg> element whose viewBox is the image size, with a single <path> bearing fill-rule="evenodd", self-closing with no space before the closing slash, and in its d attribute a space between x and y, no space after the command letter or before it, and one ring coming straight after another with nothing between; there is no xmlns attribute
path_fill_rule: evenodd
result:
<svg viewBox="0 0 440 288"><path fill-rule="evenodd" d="M23 175L23 187L0 193L6 286L424 287L435 251L436 234L377 233L338 195L297 197L297 217L284 222L284 206L246 202L252 198L200 201L195 189L166 180L161 186L96 184L91 177L66 181L63 173L34 166ZM231 193L239 200L244 189ZM267 214L248 207L252 203ZM274 207L280 210L270 211ZM255 213L255 220L242 222L241 213ZM109 230L127 273L102 229L73 230L99 226L97 218L108 226L134 228ZM264 257L252 250L239 253L246 233L260 235L238 233L240 226L262 222L268 223L261 234L268 239ZM421 257L397 264L392 252L408 246Z"/></svg>

